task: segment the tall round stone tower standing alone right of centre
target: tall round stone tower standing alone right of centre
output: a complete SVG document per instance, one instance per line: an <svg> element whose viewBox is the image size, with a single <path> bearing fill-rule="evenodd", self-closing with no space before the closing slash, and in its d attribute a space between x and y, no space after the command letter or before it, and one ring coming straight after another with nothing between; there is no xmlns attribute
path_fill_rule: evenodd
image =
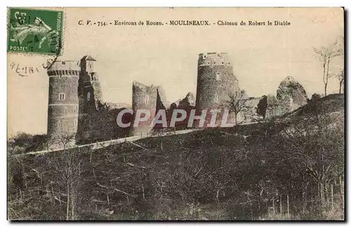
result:
<svg viewBox="0 0 351 227"><path fill-rule="evenodd" d="M223 107L230 93L239 91L227 53L200 53L197 65L197 110Z"/></svg>

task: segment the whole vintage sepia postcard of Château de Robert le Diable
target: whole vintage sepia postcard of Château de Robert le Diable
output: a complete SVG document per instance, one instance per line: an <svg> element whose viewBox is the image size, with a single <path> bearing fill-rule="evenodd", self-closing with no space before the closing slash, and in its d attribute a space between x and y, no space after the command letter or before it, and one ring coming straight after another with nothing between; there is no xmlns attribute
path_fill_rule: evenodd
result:
<svg viewBox="0 0 351 227"><path fill-rule="evenodd" d="M345 220L343 8L8 8L9 220Z"/></svg>

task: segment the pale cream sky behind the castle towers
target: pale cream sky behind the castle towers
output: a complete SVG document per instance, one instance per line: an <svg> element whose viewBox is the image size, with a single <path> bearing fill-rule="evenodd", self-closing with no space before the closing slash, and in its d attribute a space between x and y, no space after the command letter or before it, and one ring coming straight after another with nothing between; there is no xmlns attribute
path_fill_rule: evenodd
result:
<svg viewBox="0 0 351 227"><path fill-rule="evenodd" d="M114 20L289 21L289 26L118 26L79 25ZM288 76L305 87L308 96L323 93L323 68L313 47L343 36L340 8L65 8L64 49L60 60L97 60L102 96L113 103L131 103L134 80L164 87L167 100L196 93L199 53L227 52L239 86L249 96L276 94ZM41 67L48 56L8 53L8 135L25 131L45 134L48 76ZM20 77L11 65L37 67ZM343 68L343 58L331 62L331 72ZM331 79L329 93L338 92Z"/></svg>

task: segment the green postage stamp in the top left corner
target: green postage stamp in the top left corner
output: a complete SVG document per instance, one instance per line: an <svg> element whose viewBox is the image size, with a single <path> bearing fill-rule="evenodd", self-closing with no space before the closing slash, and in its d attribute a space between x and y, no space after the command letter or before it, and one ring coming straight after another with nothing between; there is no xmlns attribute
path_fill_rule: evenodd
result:
<svg viewBox="0 0 351 227"><path fill-rule="evenodd" d="M60 55L63 11L8 8L8 52Z"/></svg>

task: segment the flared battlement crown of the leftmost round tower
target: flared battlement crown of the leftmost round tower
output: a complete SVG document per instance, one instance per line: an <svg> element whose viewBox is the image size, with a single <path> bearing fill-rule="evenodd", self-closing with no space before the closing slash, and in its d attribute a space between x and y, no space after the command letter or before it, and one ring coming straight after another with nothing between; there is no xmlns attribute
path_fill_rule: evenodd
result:
<svg viewBox="0 0 351 227"><path fill-rule="evenodd" d="M79 76L80 70L79 61L56 60L48 68L48 76Z"/></svg>

